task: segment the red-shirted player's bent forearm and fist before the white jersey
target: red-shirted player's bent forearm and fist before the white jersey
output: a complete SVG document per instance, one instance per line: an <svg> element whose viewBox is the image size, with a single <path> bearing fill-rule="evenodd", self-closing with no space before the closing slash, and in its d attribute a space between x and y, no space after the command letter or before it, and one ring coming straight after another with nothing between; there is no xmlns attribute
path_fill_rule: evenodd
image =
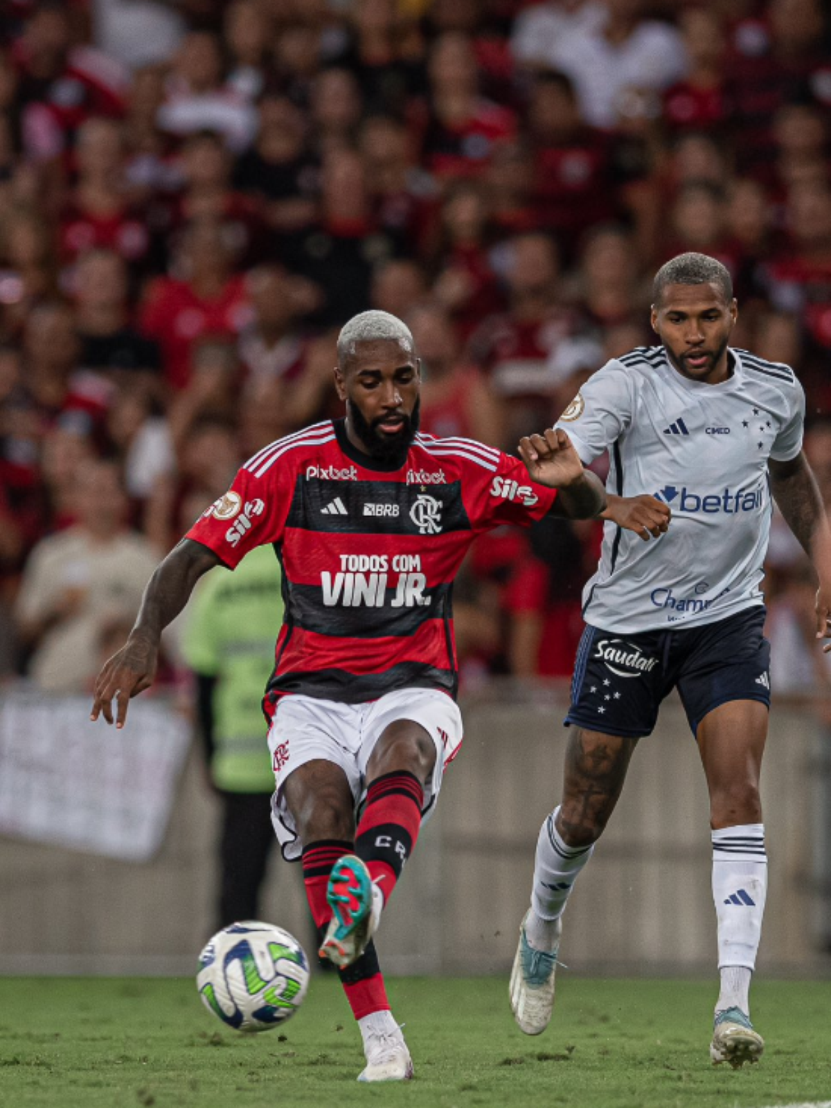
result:
<svg viewBox="0 0 831 1108"><path fill-rule="evenodd" d="M591 520L605 509L606 490L583 468L565 431L548 428L544 434L525 435L520 439L520 458L532 480L560 492L553 515Z"/></svg>

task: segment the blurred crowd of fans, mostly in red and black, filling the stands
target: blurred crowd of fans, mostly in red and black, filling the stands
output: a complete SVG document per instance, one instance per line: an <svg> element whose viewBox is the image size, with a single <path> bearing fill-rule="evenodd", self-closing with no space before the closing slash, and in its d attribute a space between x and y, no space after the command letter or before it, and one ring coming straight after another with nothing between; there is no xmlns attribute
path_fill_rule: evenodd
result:
<svg viewBox="0 0 831 1108"><path fill-rule="evenodd" d="M831 497L830 125L821 0L9 0L0 673L88 690L240 461L340 413L370 306L422 430L513 450L652 341L656 266L715 255ZM469 687L570 671L598 530L478 543ZM777 687L827 683L781 530L769 588Z"/></svg>

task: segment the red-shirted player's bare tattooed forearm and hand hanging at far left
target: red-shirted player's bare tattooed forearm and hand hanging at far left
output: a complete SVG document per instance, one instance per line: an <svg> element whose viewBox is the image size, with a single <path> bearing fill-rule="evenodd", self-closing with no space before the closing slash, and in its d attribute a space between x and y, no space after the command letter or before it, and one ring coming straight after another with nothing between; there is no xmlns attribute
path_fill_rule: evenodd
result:
<svg viewBox="0 0 831 1108"><path fill-rule="evenodd" d="M103 712L107 724L112 724L115 697L115 726L124 726L131 697L153 684L162 632L187 604L199 577L215 565L219 565L216 554L192 538L183 538L158 564L144 589L142 606L126 643L98 676L90 719L95 720Z"/></svg>

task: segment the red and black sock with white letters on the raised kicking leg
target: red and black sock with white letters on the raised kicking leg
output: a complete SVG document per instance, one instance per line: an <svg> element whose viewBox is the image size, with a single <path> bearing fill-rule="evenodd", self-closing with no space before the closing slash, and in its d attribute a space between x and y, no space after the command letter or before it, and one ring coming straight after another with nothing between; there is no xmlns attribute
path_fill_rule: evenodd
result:
<svg viewBox="0 0 831 1108"><path fill-rule="evenodd" d="M424 789L414 773L398 770L372 781L355 837L355 853L390 899L421 827Z"/></svg>

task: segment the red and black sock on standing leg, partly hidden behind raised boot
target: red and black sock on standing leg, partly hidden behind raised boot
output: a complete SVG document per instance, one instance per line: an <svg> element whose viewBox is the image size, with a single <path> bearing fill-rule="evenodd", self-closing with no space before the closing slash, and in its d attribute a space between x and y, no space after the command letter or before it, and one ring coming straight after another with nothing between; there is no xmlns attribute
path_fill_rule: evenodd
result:
<svg viewBox="0 0 831 1108"><path fill-rule="evenodd" d="M331 909L326 899L329 874L339 858L351 853L352 844L339 839L321 839L304 849L302 881L306 885L306 899L321 938L331 920ZM373 1012L389 1010L378 954L371 941L363 954L346 970L339 970L338 975L356 1019Z"/></svg>

